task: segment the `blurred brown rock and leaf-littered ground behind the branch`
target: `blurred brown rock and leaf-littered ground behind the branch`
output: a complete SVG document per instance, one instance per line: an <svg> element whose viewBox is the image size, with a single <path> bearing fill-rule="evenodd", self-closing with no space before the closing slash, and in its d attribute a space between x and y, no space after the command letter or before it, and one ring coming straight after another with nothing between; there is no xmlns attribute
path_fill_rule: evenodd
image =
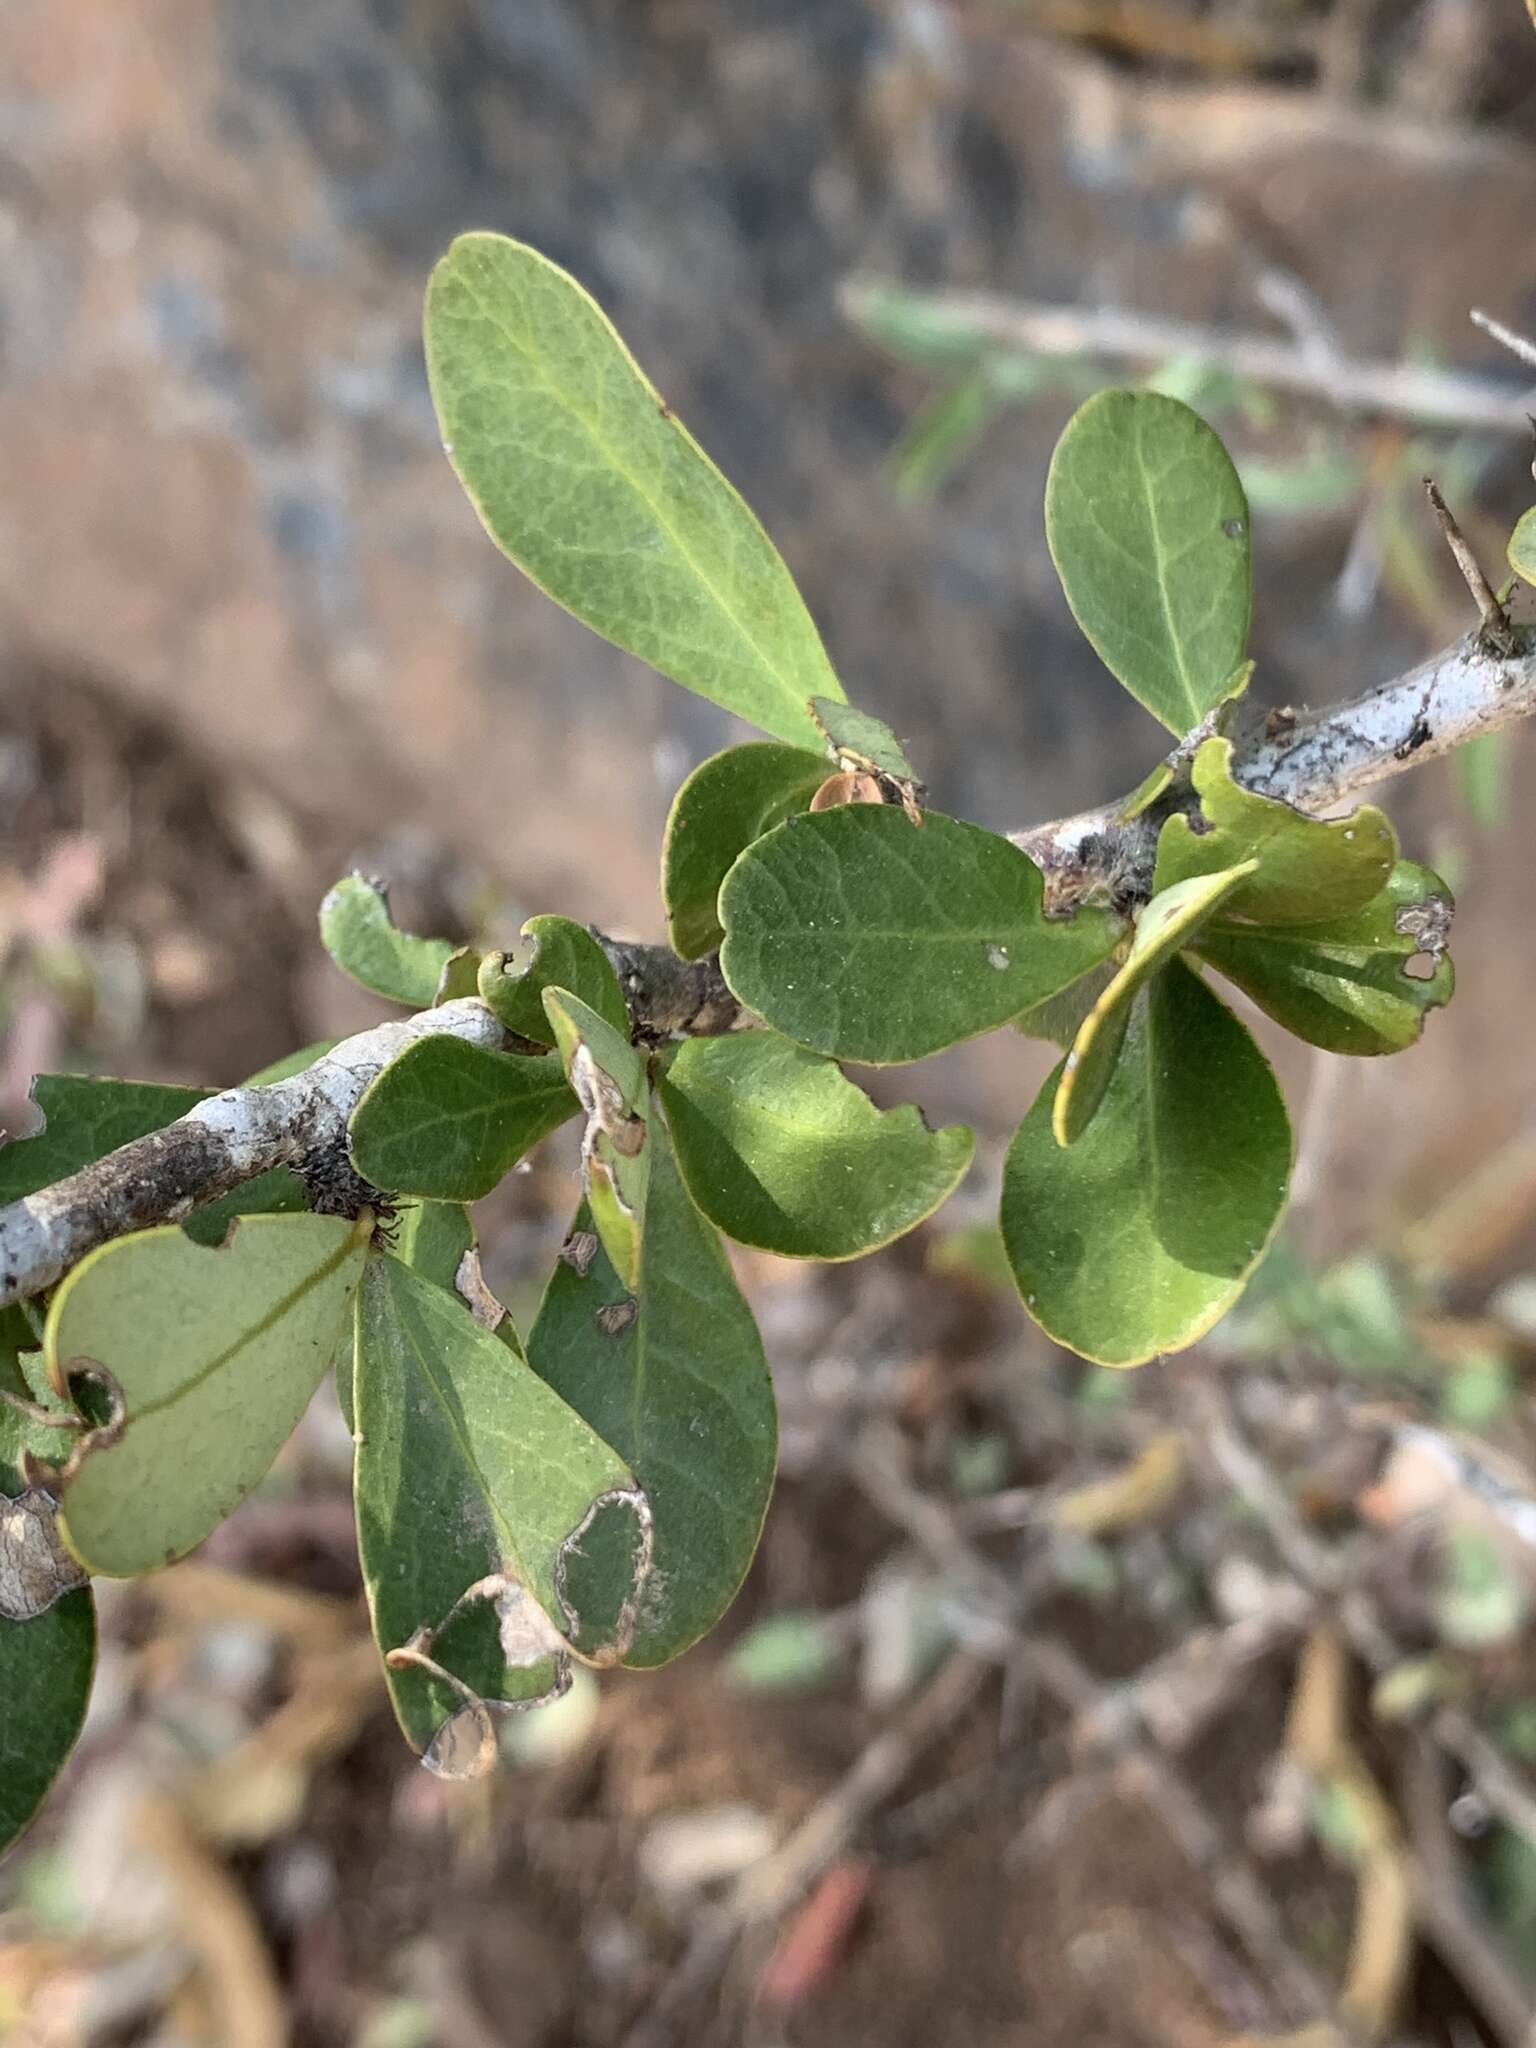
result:
<svg viewBox="0 0 1536 2048"><path fill-rule="evenodd" d="M418 340L459 229L598 295L1006 829L1161 748L1044 551L1071 408L1206 412L1255 694L1352 694L1470 623L1423 475L1491 571L1536 494L1536 375L1466 317L1536 330L1534 221L1518 0L8 0L0 1124L371 1022L313 934L352 864L418 930L659 936L668 801L743 731L479 532ZM0 2036L1536 2040L1532 791L1520 735L1393 786L1460 995L1386 1063L1278 1049L1294 1217L1184 1360L1071 1364L999 1286L1044 1049L885 1077L979 1169L856 1268L741 1260L784 1479L737 1612L492 1786L389 1724L317 1407L106 1604ZM571 1190L553 1149L481 1219L520 1317Z"/></svg>

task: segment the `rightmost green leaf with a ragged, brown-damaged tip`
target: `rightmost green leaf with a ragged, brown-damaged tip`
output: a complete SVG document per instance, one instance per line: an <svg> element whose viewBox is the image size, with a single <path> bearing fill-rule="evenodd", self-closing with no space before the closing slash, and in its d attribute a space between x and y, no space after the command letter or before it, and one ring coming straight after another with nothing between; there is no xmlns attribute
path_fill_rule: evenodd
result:
<svg viewBox="0 0 1536 2048"><path fill-rule="evenodd" d="M1386 889L1350 918L1294 928L1217 920L1194 950L1276 1024L1325 1053L1401 1053L1419 1038L1425 1014L1456 991L1444 950L1450 911L1440 877L1399 860ZM1407 973L1415 956L1427 956L1427 975Z"/></svg>

